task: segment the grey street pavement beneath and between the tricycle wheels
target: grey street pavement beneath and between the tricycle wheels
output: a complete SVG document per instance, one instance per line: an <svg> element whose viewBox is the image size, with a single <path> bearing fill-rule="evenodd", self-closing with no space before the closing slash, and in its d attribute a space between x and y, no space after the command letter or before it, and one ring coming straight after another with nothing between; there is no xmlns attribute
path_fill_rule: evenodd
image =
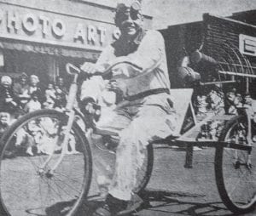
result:
<svg viewBox="0 0 256 216"><path fill-rule="evenodd" d="M114 154L91 147L93 179L90 185L89 199L84 201L77 213L78 216L90 216L102 204L102 202L93 200L100 191L96 184L96 173L99 174L101 170L104 170L106 174L109 174L114 164ZM194 151L193 168L184 168L185 151L183 149L171 149L165 145L155 146L154 169L146 188L145 204L131 215L235 215L224 207L218 196L213 166L214 151L213 148ZM67 160L63 162L63 167L61 167L63 172L67 168L68 176L73 177L70 179L72 187L69 184L64 184L59 175L56 175L56 178L58 178L54 178L55 182L53 183L50 183L51 179L44 178L41 180L38 174L33 172L35 168L33 165L34 162L42 162L42 159L39 159L39 156L29 158L20 156L17 160L10 159L2 162L1 198L9 204L8 207L14 209L13 216L65 215L65 213L60 214L60 212L63 207L65 210L68 203L58 202L59 196L56 195L63 195L62 201L65 200L65 195L67 195L68 202L70 197L73 197L71 193L76 192L73 188L77 188L79 184L73 178L82 179L83 175L82 155L67 156ZM10 178L10 174L12 178ZM66 179L65 175L63 178ZM61 193L62 190L70 192L67 194ZM59 192L56 193L56 191ZM55 200L56 203L52 205ZM42 203L45 207L42 206ZM256 215L256 212L243 215L253 216ZM3 213L0 212L0 216L3 216Z"/></svg>

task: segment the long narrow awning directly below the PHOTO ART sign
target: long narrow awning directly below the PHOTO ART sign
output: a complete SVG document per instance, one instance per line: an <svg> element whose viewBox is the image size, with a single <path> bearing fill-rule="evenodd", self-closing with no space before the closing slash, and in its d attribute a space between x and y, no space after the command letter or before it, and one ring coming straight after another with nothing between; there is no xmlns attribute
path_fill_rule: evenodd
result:
<svg viewBox="0 0 256 216"><path fill-rule="evenodd" d="M44 43L20 43L17 41L0 42L1 49L11 49L17 51L31 52L35 54L51 54L57 56L66 56L73 58L83 58L96 61L100 52L97 50L84 50L79 48L64 48L60 46L51 46Z"/></svg>

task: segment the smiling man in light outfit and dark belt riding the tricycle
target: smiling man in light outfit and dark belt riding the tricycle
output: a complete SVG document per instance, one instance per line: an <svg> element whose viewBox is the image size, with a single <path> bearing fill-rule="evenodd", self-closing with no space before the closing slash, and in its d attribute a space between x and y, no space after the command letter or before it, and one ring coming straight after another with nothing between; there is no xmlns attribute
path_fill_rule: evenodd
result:
<svg viewBox="0 0 256 216"><path fill-rule="evenodd" d="M119 134L108 196L94 214L101 216L115 215L127 208L148 143L176 134L163 37L158 31L143 30L141 1L118 3L114 21L121 31L119 39L102 51L96 64L81 66L93 74L118 62L133 64L114 66L113 79L124 100L113 111L113 118L99 126Z"/></svg>

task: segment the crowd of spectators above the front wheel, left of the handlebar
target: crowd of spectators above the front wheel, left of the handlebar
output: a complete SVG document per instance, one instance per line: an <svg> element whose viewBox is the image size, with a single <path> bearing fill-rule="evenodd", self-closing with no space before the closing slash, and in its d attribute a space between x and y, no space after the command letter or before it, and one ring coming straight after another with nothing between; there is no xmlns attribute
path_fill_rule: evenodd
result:
<svg viewBox="0 0 256 216"><path fill-rule="evenodd" d="M0 137L18 117L43 108L62 109L66 105L66 88L62 77L49 82L47 88L38 76L22 73L17 81L9 76L0 79Z"/></svg>

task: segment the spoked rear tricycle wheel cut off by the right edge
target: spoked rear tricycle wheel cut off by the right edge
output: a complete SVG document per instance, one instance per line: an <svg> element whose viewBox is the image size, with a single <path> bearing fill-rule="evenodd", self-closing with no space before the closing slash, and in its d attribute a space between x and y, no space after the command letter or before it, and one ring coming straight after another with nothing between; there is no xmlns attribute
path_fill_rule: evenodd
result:
<svg viewBox="0 0 256 216"><path fill-rule="evenodd" d="M247 144L247 118L232 118L224 127L220 141ZM218 192L234 213L253 211L256 205L256 151L219 147L215 155Z"/></svg>

